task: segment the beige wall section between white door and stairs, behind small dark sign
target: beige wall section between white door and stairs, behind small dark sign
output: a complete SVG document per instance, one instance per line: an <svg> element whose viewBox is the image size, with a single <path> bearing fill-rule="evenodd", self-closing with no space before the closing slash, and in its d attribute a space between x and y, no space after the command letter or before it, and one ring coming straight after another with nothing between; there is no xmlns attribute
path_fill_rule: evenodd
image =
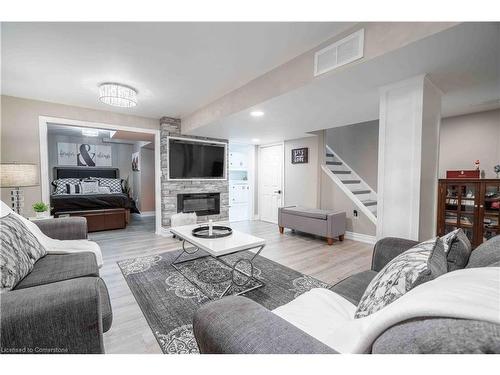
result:
<svg viewBox="0 0 500 375"><path fill-rule="evenodd" d="M317 136L285 141L285 206L318 207L318 152ZM292 164L292 149L307 147L309 162Z"/></svg>

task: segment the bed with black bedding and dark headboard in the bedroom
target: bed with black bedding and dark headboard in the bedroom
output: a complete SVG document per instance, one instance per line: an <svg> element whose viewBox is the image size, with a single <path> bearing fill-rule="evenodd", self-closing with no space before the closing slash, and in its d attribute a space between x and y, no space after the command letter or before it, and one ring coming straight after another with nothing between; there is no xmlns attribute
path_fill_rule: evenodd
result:
<svg viewBox="0 0 500 375"><path fill-rule="evenodd" d="M119 179L118 168L54 167L55 180L74 178ZM55 194L50 196L54 217L82 216L87 218L89 232L125 228L130 212L138 212L135 202L123 192L106 194Z"/></svg>

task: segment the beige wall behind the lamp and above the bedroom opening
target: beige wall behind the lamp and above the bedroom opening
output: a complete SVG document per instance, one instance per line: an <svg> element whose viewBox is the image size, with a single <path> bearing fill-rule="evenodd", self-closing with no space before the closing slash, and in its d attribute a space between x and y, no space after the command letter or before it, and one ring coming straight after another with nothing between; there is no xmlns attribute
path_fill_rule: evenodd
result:
<svg viewBox="0 0 500 375"><path fill-rule="evenodd" d="M61 117L71 120L101 122L111 125L159 129L158 119L98 111L62 104L1 97L1 151L2 162L30 162L40 164L38 117ZM10 189L1 189L2 201L9 203ZM39 186L28 187L25 192L25 215L32 215L31 205L41 200Z"/></svg>

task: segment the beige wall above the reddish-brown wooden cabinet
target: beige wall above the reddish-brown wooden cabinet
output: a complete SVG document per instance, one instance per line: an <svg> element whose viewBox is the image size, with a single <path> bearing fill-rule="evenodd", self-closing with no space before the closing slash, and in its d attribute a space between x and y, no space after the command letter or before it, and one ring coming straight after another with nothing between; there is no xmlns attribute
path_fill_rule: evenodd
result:
<svg viewBox="0 0 500 375"><path fill-rule="evenodd" d="M448 117L441 121L439 178L446 170L474 169L479 159L484 177L496 177L500 164L500 110Z"/></svg>

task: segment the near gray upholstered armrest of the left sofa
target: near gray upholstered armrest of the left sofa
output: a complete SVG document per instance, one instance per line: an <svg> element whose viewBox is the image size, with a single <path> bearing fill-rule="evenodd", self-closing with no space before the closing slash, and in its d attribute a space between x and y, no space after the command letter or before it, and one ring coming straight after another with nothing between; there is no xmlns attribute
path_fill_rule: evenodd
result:
<svg viewBox="0 0 500 375"><path fill-rule="evenodd" d="M103 284L80 277L2 294L2 351L103 353Z"/></svg>

